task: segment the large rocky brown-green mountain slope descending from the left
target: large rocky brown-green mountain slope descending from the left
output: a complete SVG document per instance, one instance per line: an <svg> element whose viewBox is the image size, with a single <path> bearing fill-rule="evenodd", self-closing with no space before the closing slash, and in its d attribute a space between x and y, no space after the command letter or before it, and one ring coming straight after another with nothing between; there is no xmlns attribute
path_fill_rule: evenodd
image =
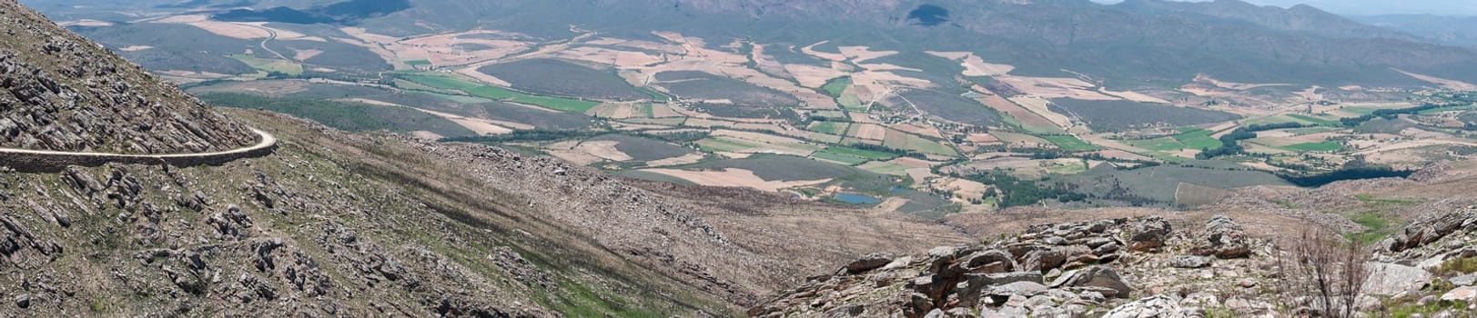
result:
<svg viewBox="0 0 1477 318"><path fill-rule="evenodd" d="M6 22L75 37L44 21ZM62 49L13 60L74 63ZM137 71L117 57L89 63ZM165 93L139 93L158 107L120 105L124 113L176 112L161 96L188 99L149 77L126 80L117 85ZM904 215L626 181L489 146L188 106L198 116L180 116L219 118L219 125L196 122L201 135L251 125L276 135L279 147L220 166L0 172L0 294L12 300L0 314L733 317L803 272L866 252L970 240ZM0 116L19 112L6 107ZM189 150L195 140L173 141L157 149Z"/></svg>

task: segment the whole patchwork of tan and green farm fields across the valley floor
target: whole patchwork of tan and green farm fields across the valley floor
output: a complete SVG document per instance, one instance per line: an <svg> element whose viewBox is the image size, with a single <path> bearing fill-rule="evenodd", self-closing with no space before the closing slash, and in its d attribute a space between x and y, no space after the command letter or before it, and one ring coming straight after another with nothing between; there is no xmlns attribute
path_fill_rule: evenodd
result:
<svg viewBox="0 0 1477 318"><path fill-rule="evenodd" d="M202 81L192 88L201 93L332 100L321 109L281 110L347 130L508 144L644 180L755 187L833 203L843 193L876 197L880 209L931 216L995 209L1001 197L933 193L994 194L1000 184L966 178L988 171L1043 188L1066 181L1084 188L1074 190L1078 194L1099 197L1046 200L1052 205L1177 205L1224 196L1227 188L1211 184L1219 178L1230 178L1227 187L1284 186L1248 168L1328 172L1356 159L1419 166L1477 158L1464 149L1477 144L1464 130L1477 121L1473 106L1343 125L1458 96L1439 90L1281 93L1278 85L1216 80L1201 81L1208 87L1106 87L1086 74L1025 77L1018 72L1060 69L1004 65L967 52L749 43L671 31L626 35L561 26L575 34L554 38L496 29L411 37L326 31L267 44L297 62L253 54L261 44L256 40L211 40L211 52L248 53L151 63L223 60L238 69L229 74L247 75L177 68L162 74ZM313 37L323 43L307 40ZM353 50L334 49L340 46ZM124 47L133 57L160 56L149 53L155 47ZM278 74L297 80L263 80ZM208 81L223 78L247 82ZM1400 100L1338 102L1381 96ZM385 124L396 118L405 124ZM1269 124L1301 127L1257 127ZM1221 137L1245 137L1247 128L1257 130L1251 138L1221 147ZM1170 177L1151 183L1139 174ZM1124 188L1109 191L1111 181Z"/></svg>

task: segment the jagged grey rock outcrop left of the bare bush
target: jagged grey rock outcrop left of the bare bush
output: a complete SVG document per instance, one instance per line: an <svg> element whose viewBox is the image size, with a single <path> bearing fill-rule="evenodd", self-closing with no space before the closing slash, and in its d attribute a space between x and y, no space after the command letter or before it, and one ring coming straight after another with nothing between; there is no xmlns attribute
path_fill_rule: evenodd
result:
<svg viewBox="0 0 1477 318"><path fill-rule="evenodd" d="M1226 216L1192 231L1176 231L1164 218L1148 216L1032 225L1003 239L936 247L920 256L867 255L749 314L1185 317L1207 308L1266 315L1272 308L1257 299L1220 303L1219 294L1263 284L1242 272L1266 261L1252 259L1250 249L1266 241L1248 239Z"/></svg>

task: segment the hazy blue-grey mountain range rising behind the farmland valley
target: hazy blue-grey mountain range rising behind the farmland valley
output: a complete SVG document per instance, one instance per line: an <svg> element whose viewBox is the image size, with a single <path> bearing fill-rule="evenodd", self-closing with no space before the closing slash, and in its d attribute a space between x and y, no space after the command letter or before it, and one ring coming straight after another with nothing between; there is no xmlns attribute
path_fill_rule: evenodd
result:
<svg viewBox="0 0 1477 318"><path fill-rule="evenodd" d="M46 6L43 10L61 6ZM1087 77L1115 88L1165 87L1199 74L1232 82L1419 87L1402 74L1477 82L1477 50L1459 31L1399 21L1347 19L1312 6L1241 0L409 0L409 6L195 0L217 19L352 24L390 35L492 28L549 40L572 26L607 37L678 31L759 43L975 52L1018 75ZM250 9L241 9L250 7ZM1409 21L1409 19L1408 19ZM1365 22L1378 22L1380 28ZM1459 26L1453 26L1459 28ZM1430 40L1428 40L1430 38ZM707 41L710 46L728 43ZM905 65L905 60L894 60ZM928 71L929 65L910 68Z"/></svg>

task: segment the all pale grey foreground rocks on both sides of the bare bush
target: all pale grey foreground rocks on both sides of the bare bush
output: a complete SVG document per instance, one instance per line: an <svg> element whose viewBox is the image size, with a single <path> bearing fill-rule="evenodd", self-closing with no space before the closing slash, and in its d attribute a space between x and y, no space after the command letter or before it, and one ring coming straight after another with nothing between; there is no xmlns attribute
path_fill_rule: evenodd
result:
<svg viewBox="0 0 1477 318"><path fill-rule="evenodd" d="M1360 250L1356 315L1471 317L1477 256L1470 209L1439 213ZM867 255L750 309L753 317L1320 317L1289 246L1217 215L1032 225L926 255ZM1371 259L1372 258L1372 259ZM1279 262L1282 261L1282 262ZM1453 265L1458 264L1458 265ZM1353 287L1353 286L1351 286Z"/></svg>

